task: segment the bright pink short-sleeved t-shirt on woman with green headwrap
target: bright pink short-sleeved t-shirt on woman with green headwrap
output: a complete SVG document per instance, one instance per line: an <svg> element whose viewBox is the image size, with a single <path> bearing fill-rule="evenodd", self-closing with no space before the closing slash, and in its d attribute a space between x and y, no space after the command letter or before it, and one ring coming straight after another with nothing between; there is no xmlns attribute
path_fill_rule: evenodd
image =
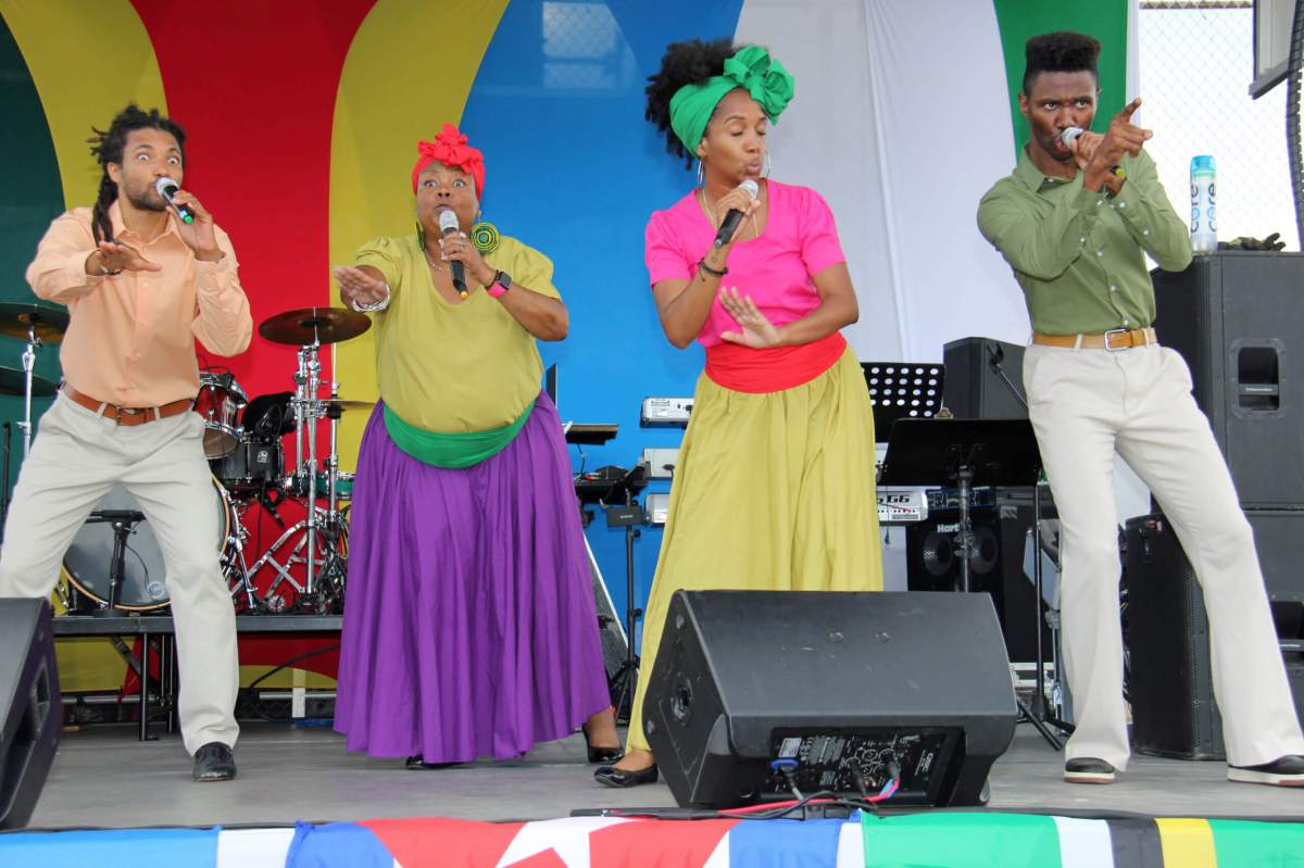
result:
<svg viewBox="0 0 1304 868"><path fill-rule="evenodd" d="M808 186L767 180L768 219L760 237L734 244L729 274L721 287L737 287L751 296L775 326L785 326L819 306L812 274L845 262L833 214L824 198ZM655 211L647 228L647 266L652 283L690 280L716 239L716 228L698 203L694 189L665 211ZM703 347L724 343L722 331L738 331L717 298L698 332Z"/></svg>

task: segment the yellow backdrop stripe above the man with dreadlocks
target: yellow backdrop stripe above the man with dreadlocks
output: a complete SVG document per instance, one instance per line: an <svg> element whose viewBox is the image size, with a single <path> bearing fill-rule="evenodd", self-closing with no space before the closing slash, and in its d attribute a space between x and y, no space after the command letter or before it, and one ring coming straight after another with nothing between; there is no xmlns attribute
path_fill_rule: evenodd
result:
<svg viewBox="0 0 1304 868"><path fill-rule="evenodd" d="M134 102L167 111L145 25L128 0L0 0L46 111L68 207L90 206L100 169L86 139Z"/></svg>

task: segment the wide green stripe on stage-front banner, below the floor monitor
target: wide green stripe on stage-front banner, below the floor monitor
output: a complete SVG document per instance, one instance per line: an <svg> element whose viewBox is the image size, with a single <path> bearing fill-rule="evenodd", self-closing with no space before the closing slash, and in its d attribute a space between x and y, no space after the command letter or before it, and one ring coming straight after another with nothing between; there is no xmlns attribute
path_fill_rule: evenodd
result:
<svg viewBox="0 0 1304 868"><path fill-rule="evenodd" d="M1022 813L862 815L866 868L1058 868L1054 817ZM1158 838L1157 838L1158 841Z"/></svg>

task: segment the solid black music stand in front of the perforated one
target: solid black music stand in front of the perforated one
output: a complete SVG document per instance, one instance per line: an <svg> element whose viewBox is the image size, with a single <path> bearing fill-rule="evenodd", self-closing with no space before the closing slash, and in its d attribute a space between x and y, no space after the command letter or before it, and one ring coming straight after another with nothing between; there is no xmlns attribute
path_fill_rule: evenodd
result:
<svg viewBox="0 0 1304 868"><path fill-rule="evenodd" d="M960 499L956 557L960 559L960 590L968 593L969 560L978 554L969 517L970 491L974 486L1035 486L1041 469L1042 456L1037 448L1037 437L1033 433L1033 424L1026 418L901 418L892 425L879 484L956 485ZM1041 606L1041 589L1037 605ZM1046 722L1033 714L1017 693L1015 701L1018 702L1025 719L1037 727L1042 738L1056 751L1061 749L1063 744Z"/></svg>

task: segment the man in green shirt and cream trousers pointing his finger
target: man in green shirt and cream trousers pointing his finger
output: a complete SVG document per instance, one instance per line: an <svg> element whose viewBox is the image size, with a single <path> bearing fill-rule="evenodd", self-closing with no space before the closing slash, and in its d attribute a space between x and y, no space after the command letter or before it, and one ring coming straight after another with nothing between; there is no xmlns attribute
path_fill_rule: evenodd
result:
<svg viewBox="0 0 1304 868"><path fill-rule="evenodd" d="M1128 761L1119 624L1115 451L1163 504L1209 610L1227 777L1304 786L1304 738L1254 553L1181 356L1155 341L1149 253L1191 263L1191 239L1145 152L1133 100L1103 136L1086 130L1101 43L1052 33L1028 42L1020 109L1031 138L978 206L978 228L1015 270L1033 339L1028 414L1061 523L1064 662L1077 729L1064 779L1112 783Z"/></svg>

